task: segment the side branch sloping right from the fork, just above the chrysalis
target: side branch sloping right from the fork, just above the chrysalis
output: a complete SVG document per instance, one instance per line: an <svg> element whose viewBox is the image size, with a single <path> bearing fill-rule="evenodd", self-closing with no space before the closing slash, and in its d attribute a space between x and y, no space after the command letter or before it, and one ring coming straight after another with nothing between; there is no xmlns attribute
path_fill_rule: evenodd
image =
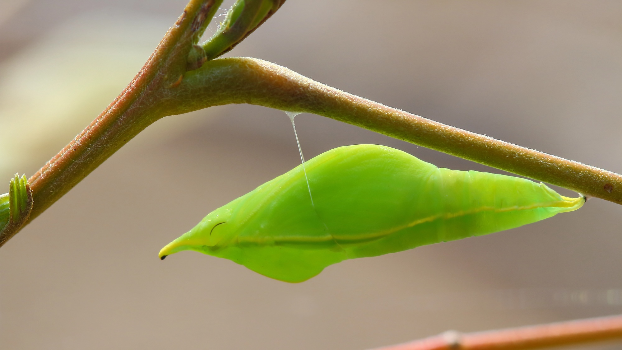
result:
<svg viewBox="0 0 622 350"><path fill-rule="evenodd" d="M259 59L213 60L186 73L169 113L250 103L307 112L622 204L622 176L471 133L315 82ZM173 105L174 104L174 105Z"/></svg>

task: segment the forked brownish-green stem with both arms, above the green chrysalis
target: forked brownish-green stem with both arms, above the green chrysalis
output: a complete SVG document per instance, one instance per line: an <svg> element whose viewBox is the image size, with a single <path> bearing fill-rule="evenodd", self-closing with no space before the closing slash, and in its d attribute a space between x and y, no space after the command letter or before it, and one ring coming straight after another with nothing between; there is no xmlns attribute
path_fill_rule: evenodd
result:
<svg viewBox="0 0 622 350"><path fill-rule="evenodd" d="M328 87L270 62L240 57L217 59L187 72L188 63L195 63L187 62L188 53L197 46L206 21L221 2L191 0L121 95L30 177L34 207L29 221L159 118L229 103L327 116L622 204L619 174L443 125ZM275 2L274 11L282 2Z"/></svg>

